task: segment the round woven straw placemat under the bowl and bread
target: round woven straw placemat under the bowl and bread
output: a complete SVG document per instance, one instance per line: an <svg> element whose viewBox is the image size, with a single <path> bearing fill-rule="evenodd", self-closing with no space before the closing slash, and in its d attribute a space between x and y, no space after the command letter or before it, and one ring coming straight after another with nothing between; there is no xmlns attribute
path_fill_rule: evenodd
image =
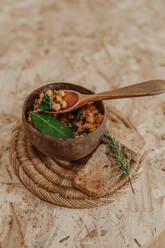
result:
<svg viewBox="0 0 165 248"><path fill-rule="evenodd" d="M116 109L110 108L107 113L108 126L112 132L118 131L121 135L128 130L136 131L132 123L123 118ZM16 175L31 192L45 201L63 207L89 208L107 204L126 192L129 185L128 179L122 177L105 197L98 199L87 196L73 186L74 176L85 161L83 159L75 162L55 161L41 154L31 145L22 123L19 123L12 132L10 161ZM142 163L136 162L131 166L132 182L139 176L141 166Z"/></svg>

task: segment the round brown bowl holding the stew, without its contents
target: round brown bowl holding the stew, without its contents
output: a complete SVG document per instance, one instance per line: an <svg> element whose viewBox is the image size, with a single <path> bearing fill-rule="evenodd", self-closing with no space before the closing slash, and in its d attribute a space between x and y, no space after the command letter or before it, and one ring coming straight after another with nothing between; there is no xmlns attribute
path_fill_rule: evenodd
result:
<svg viewBox="0 0 165 248"><path fill-rule="evenodd" d="M101 101L96 103L97 108L104 114L104 117L102 123L94 132L77 139L54 138L41 133L27 121L27 113L32 109L35 99L41 92L48 89L67 89L76 90L84 94L93 94L93 92L82 86L62 82L47 84L33 91L27 96L22 109L22 120L30 142L40 152L54 159L73 161L89 155L99 145L105 132L106 114L103 103Z"/></svg>

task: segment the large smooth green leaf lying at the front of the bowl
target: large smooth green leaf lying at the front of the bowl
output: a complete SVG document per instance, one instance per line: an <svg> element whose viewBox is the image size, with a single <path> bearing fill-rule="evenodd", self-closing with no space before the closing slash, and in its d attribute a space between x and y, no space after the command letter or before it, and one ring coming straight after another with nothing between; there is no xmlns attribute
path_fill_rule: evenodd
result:
<svg viewBox="0 0 165 248"><path fill-rule="evenodd" d="M51 115L31 112L30 116L35 127L42 133L55 138L74 138L73 131Z"/></svg>

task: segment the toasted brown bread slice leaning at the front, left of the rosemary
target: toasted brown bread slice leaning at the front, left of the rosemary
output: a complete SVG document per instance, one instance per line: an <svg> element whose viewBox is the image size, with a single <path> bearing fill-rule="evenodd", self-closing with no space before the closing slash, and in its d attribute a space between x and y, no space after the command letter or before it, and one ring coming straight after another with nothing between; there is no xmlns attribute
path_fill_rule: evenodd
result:
<svg viewBox="0 0 165 248"><path fill-rule="evenodd" d="M89 196L106 195L109 185L119 180L113 179L119 171L114 166L114 159L109 158L106 150L107 145L101 144L74 178L74 186Z"/></svg>

